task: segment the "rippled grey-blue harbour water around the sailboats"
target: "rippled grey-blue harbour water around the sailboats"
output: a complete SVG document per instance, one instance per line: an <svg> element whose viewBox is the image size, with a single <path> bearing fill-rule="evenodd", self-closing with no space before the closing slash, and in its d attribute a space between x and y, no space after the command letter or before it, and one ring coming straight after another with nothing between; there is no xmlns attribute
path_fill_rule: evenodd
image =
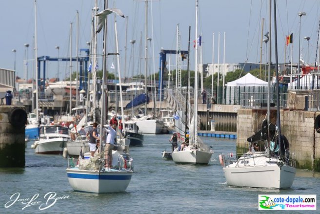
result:
<svg viewBox="0 0 320 214"><path fill-rule="evenodd" d="M0 213L257 213L258 194L320 192L320 173L303 170L298 170L289 190L229 187L218 156L221 152L235 153L235 140L203 137L215 153L210 165L192 166L162 159L160 152L171 149L169 138L146 135L143 147L130 148L135 165L131 183L125 193L109 194L74 192L67 180L66 159L61 155L36 155L29 142L25 168L0 169ZM50 192L61 199L47 202L44 196ZM5 208L6 203L11 204L10 197L15 194L17 198L18 193L22 201ZM21 203L32 197L38 204L25 207ZM318 210L319 201L318 197ZM41 211L40 204L42 208L52 206Z"/></svg>

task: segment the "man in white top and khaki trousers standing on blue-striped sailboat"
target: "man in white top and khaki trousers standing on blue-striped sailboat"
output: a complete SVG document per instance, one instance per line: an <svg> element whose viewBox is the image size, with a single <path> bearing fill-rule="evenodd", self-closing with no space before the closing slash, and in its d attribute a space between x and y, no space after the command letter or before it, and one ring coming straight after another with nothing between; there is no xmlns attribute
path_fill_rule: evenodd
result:
<svg viewBox="0 0 320 214"><path fill-rule="evenodd" d="M115 144L115 138L117 137L117 126L115 124L106 126L105 131L108 132L104 149L105 168L112 168L112 150Z"/></svg>

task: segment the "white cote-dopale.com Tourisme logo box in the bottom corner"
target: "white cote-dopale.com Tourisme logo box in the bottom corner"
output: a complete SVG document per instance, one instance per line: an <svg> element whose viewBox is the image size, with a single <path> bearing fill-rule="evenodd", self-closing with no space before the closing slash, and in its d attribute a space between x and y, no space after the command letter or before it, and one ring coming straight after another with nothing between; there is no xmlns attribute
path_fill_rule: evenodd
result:
<svg viewBox="0 0 320 214"><path fill-rule="evenodd" d="M259 210L317 210L315 194L260 194Z"/></svg>

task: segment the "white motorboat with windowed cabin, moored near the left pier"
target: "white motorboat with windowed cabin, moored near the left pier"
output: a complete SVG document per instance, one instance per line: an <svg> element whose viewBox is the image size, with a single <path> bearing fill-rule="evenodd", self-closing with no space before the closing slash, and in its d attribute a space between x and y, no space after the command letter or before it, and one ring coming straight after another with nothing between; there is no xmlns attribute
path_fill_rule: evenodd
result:
<svg viewBox="0 0 320 214"><path fill-rule="evenodd" d="M37 154L62 154L69 140L70 134L67 127L41 126L40 139L32 145L32 148Z"/></svg>

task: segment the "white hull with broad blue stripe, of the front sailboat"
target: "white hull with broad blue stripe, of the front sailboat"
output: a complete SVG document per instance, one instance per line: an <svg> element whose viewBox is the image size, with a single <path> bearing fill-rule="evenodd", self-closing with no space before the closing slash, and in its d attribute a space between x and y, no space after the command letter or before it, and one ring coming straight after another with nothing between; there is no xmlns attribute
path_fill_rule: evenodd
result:
<svg viewBox="0 0 320 214"><path fill-rule="evenodd" d="M68 181L75 191L88 193L118 193L124 192L133 171L89 171L78 168L67 169Z"/></svg>

